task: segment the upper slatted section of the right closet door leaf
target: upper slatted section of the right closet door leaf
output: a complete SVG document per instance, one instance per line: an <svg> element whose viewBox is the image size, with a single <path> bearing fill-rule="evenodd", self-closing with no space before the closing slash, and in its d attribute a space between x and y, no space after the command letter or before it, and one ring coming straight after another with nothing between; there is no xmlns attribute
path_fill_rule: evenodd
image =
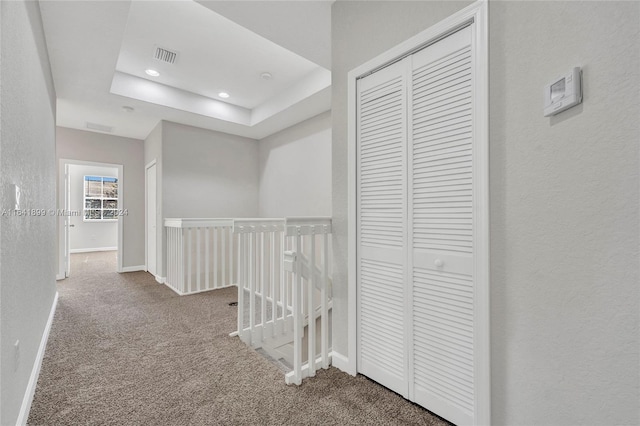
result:
<svg viewBox="0 0 640 426"><path fill-rule="evenodd" d="M424 56L428 57L429 52ZM472 124L471 88L461 91L457 87L471 79L470 46L463 43L445 57L423 61L430 62L414 68L412 87L413 100L419 103L414 104L412 111L412 213L416 218L424 218L423 209L442 201L455 201L458 207L471 209L473 196L473 152L468 131ZM450 99L441 98L445 89L455 91L457 100L452 103ZM434 98L441 100L438 103ZM424 104L430 108L420 107ZM466 133L467 137L442 145L443 135L451 133ZM432 173L452 169L456 170L455 174L439 175L435 182L432 180ZM472 216L449 215L446 210L440 215L442 219L430 217L422 224L418 220L413 235L414 248L471 253L472 238L460 238L458 232L447 235L438 225L447 225L452 231L469 230ZM435 230L439 230L437 235L432 232Z"/></svg>

